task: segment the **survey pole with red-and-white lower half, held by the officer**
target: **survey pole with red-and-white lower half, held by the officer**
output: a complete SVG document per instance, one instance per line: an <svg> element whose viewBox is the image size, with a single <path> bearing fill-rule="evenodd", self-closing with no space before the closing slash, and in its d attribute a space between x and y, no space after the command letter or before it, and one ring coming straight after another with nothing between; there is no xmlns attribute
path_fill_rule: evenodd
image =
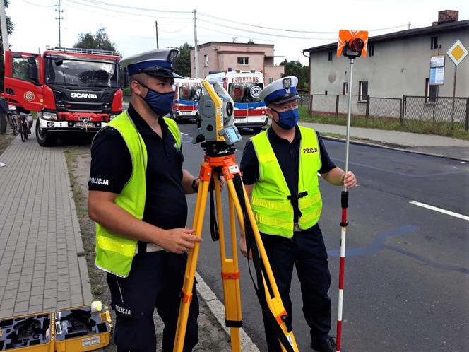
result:
<svg viewBox="0 0 469 352"><path fill-rule="evenodd" d="M347 112L347 139L345 141L345 166L344 166L344 178L348 171L348 146L350 144L350 110L352 106L352 78L353 78L353 62L352 58L350 61L350 81L348 90L348 112ZM340 344L342 342L342 309L343 309L343 283L344 283L344 271L345 271L345 235L347 234L347 208L348 208L348 190L347 187L343 187L340 203L342 205L342 219L340 221L341 232L340 232L340 264L339 264L339 299L338 299L338 311L337 311L337 346L336 351L340 351Z"/></svg>

